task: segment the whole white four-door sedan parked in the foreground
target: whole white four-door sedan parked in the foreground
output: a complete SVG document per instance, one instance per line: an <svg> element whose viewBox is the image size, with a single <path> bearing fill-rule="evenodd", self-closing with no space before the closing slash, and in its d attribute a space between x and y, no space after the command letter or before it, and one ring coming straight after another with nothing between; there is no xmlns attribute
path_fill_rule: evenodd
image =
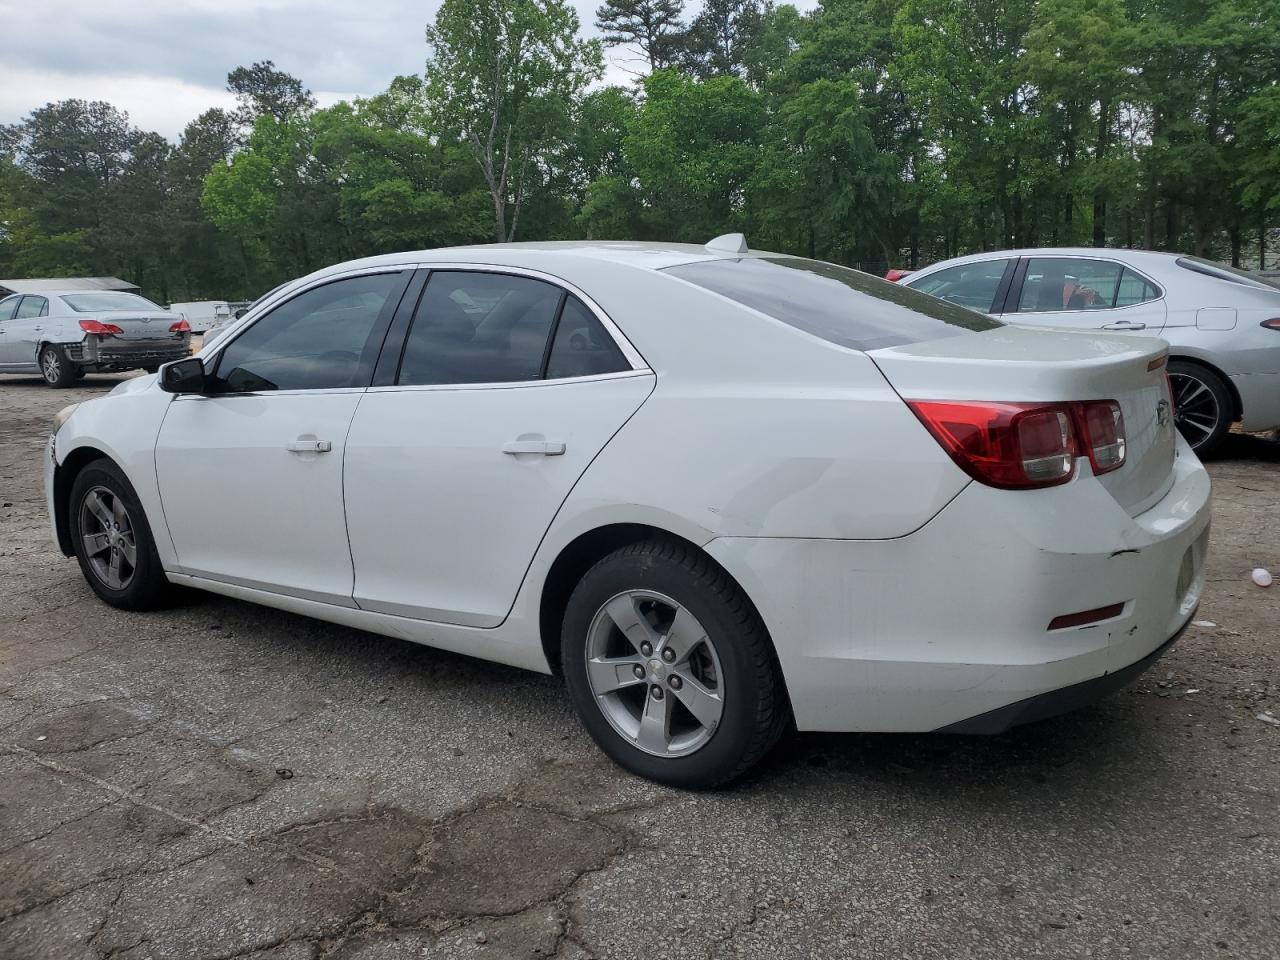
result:
<svg viewBox="0 0 1280 960"><path fill-rule="evenodd" d="M1210 522L1166 353L736 236L383 256L63 411L49 508L110 604L562 672L609 756L708 786L791 721L996 732L1149 666Z"/></svg>

